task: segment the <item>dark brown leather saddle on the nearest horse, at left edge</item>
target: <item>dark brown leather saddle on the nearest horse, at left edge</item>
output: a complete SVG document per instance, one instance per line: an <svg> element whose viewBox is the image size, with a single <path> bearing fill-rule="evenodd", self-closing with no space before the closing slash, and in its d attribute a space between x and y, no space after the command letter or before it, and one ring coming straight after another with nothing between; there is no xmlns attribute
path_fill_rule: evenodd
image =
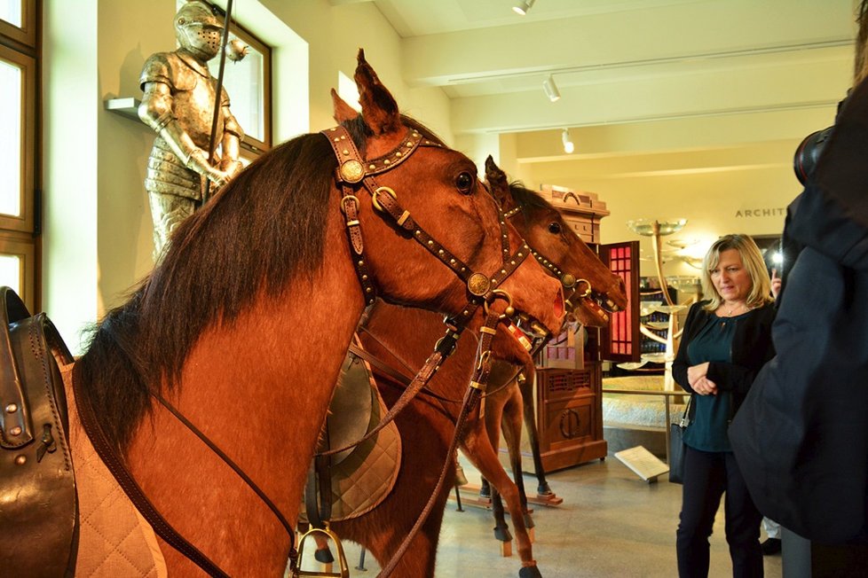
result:
<svg viewBox="0 0 868 578"><path fill-rule="evenodd" d="M44 313L0 287L0 568L72 576L77 496L58 361L73 356Z"/></svg>

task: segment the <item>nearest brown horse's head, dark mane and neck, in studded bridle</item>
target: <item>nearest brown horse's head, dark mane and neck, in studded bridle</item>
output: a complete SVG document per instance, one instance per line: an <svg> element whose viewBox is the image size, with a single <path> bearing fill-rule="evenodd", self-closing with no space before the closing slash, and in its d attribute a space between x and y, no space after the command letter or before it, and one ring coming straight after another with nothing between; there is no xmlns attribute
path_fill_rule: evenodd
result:
<svg viewBox="0 0 868 578"><path fill-rule="evenodd" d="M86 439L77 418L91 419L94 446L119 455L209 574L283 574L320 426L375 293L471 327L479 303L501 313L511 296L548 331L563 324L559 284L521 261L522 241L501 228L473 162L408 125L362 51L355 79L361 116L281 144L235 177L178 228L67 372L73 445ZM527 359L515 340L494 345ZM117 551L94 519L82 524L82 573ZM189 551L167 547L175 538L162 522L151 525L151 551L171 575L201 573Z"/></svg>

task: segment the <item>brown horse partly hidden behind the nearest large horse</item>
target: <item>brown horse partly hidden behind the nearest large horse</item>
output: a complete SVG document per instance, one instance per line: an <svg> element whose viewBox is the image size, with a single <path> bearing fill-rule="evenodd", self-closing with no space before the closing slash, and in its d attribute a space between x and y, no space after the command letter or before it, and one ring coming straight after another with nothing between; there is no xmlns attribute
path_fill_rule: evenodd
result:
<svg viewBox="0 0 868 578"><path fill-rule="evenodd" d="M333 95L334 96L334 95ZM352 114L341 107L335 98L337 118ZM564 223L556 209L548 205L531 191L511 191L506 186L506 178L489 160L486 163L489 177L499 173L501 181L492 185L506 215L513 218L520 230L528 238L541 262L550 271L563 269L559 274L565 285L578 290L573 295L576 312L582 319L602 318L604 311L598 301L604 302L609 309L620 309L627 305L623 281L612 274L596 254L578 238ZM510 194L511 193L511 194ZM509 218L509 217L508 217ZM529 242L529 244L531 244ZM545 255L544 257L542 255ZM548 263L552 266L548 267ZM555 266L555 263L557 265ZM579 278L581 277L581 279ZM577 281L579 281L577 283ZM369 311L364 327L359 331L359 339L364 348L382 363L405 374L418 368L433 340L438 338L438 318L430 313L403 309L376 302ZM331 528L342 539L360 543L371 551L383 565L391 560L398 550L422 506L433 492L438 480L440 465L450 459L447 453L450 436L454 430L462 392L467 387L473 366L475 344L472 339L462 338L458 348L448 363L432 380L430 390L437 395L420 395L398 414L396 423L402 437L401 467L398 478L385 496L383 502L372 510L355 517L331 522ZM509 361L509 360L507 360ZM533 362L522 364L533 371ZM374 376L380 393L387 405L391 406L404 385L394 377L395 371L382 371L376 365ZM495 363L489 390L509 384L515 378L516 367L510 363ZM489 400L486 398L485 411ZM499 488L501 495L509 504L513 525L517 535L517 550L521 558L522 577L540 576L533 559L533 550L525 528L523 509L517 488L509 475L504 472L495 449L485 431L485 422L478 411L471 415L470 431L462 441L463 452L470 457L485 477ZM395 575L416 577L434 574L435 555L438 535L443 518L443 508L449 492L444 488L431 510L422 531L414 536L413 542L396 567ZM495 528L497 529L497 528ZM320 548L325 547L320 541Z"/></svg>

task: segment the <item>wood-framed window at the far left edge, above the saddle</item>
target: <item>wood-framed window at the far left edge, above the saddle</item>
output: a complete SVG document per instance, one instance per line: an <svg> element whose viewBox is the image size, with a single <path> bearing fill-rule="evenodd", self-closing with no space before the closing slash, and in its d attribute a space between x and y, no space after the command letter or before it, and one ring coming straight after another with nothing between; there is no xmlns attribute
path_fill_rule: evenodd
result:
<svg viewBox="0 0 868 578"><path fill-rule="evenodd" d="M36 310L36 0L0 0L0 285Z"/></svg>

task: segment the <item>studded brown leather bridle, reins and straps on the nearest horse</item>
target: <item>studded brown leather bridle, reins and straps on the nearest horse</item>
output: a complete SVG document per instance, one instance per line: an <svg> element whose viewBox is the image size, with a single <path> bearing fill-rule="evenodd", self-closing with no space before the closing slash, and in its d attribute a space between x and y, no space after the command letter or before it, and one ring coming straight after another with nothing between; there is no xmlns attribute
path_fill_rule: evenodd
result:
<svg viewBox="0 0 868 578"><path fill-rule="evenodd" d="M351 252L354 254L353 265L356 269L356 274L359 277L359 284L362 287L366 302L368 304L374 302L376 291L374 283L375 279L372 276L370 269L368 269L364 257L364 242L361 235L361 228L359 226L359 199L354 194L362 187L371 194L374 207L378 212L390 216L399 228L411 232L413 238L418 243L437 257L438 260L444 262L446 266L454 271L456 276L462 279L462 281L467 285L468 293L470 293L468 304L462 309L462 312L457 316L446 320L446 335L443 339L438 341L434 353L430 355L429 360L425 363L422 370L420 370L419 374L417 374L414 379L414 384L407 388L405 394L402 395L401 399L398 400L398 403L393 406L392 410L394 411L390 410L390 412L383 417L381 424L366 436L365 439L367 439L367 437L370 437L382 429L383 426L388 424L388 422L397 415L400 407L405 406L406 403L412 399L414 394L413 392L418 391L428 383L430 378L438 370L439 366L446 360L446 357L452 353L455 342L458 340L458 337L461 335L461 332L463 332L466 325L470 322L470 318L475 314L480 306L485 307L485 311L488 313L488 305L490 302L498 298L506 299L509 303L507 312L509 315L512 314L511 296L509 293L496 287L497 285L500 285L503 280L509 277L521 262L525 260L526 256L530 254L530 247L522 241L522 246L517 250L517 252L511 256L509 255L509 235L506 228L506 219L501 216L499 223L501 228L501 246L504 255L503 265L490 277L484 273L474 272L470 269L469 265L447 251L444 246L441 246L434 238L430 237L430 235L423 230L418 223L415 223L414 219L410 216L409 211L406 211L406 209L401 207L398 203L398 195L395 191L389 187L381 187L376 184L374 178L375 175L397 167L401 162L409 158L409 156L415 152L419 146L442 146L442 144L438 144L422 137L420 131L409 129L402 143L398 145L398 148L375 160L362 160L359 151L352 142L350 133L341 126L323 130L321 131L321 134L327 137L338 161L335 178L343 193L341 199L341 211L346 217L345 223L347 234L350 240ZM488 373L491 371L490 348L491 340L495 333L493 327L500 323L502 316L492 312L488 313L487 317L485 325L480 329L480 331L483 332L483 338L480 340L480 348L483 343L485 343L487 344L488 351L487 355L482 355L480 353L484 359L481 359L480 363L477 364L477 371L474 372L475 378L479 380L471 383L471 385L476 384L476 387L481 388L485 388ZM489 324L491 325L491 328L488 327ZM485 332L486 328L491 332L490 335ZM86 402L86 398L80 394L79 387L75 387L75 390L79 415L85 433L87 433L88 437L91 439L94 449L107 465L109 471L113 474L114 479L117 480L124 493L136 506L138 512L140 512L147 522L154 528L154 532L157 535L160 535L160 537L166 543L169 543L175 550L184 555L185 558L193 561L193 563L199 566L205 573L210 576L218 576L221 578L228 577L228 574L208 558L208 556L197 549L192 543L188 542L184 536L179 535L178 531L175 530L175 528L172 527L165 518L163 518L162 514L156 510L154 504L148 500L142 488L138 486L138 483L133 479L129 469L123 463L118 449L108 441L91 404ZM478 391L478 389L473 388L471 388L471 390ZM250 479L249 476L241 470L240 466L236 465L233 460L228 457L222 449L217 447L213 441L210 441L204 433L201 433L201 430L186 419L184 415L169 401L164 399L161 394L154 390L151 390L150 393L154 396L154 399L169 410L175 418L178 418L185 427L199 437L200 440L209 447L209 449L215 452L226 465L229 465L233 471L238 474L241 480L243 480L245 484L247 484L247 486L260 497L269 510L272 511L274 516L280 521L280 525L286 530L289 537L289 575L297 576L299 567L296 564L298 560L298 552L296 551L295 545L295 528L292 527L288 519L286 519L283 513L280 512L277 505L274 504L264 491L256 485L254 480ZM402 400L404 401L402 402ZM458 433L457 428L456 433ZM363 440L360 440L359 442L361 441ZM455 441L455 443L457 444L457 441ZM351 444L348 448L353 445L356 444ZM342 450L343 449L337 449L328 453L337 453ZM446 469L441 475L440 485L442 485L442 480L445 478L445 472ZM421 524L419 525L421 526ZM403 553L403 551L401 553ZM399 556L393 561L397 562L398 559Z"/></svg>

